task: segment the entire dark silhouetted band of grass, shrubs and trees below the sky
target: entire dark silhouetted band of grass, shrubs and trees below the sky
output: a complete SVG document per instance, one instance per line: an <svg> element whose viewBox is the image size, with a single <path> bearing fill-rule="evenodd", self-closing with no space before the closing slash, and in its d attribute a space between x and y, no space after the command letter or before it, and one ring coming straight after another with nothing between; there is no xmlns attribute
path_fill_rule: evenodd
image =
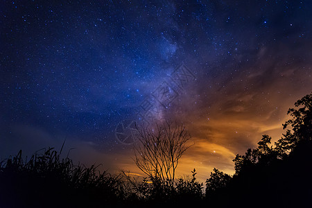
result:
<svg viewBox="0 0 312 208"><path fill-rule="evenodd" d="M281 139L272 144L263 135L257 148L233 159L234 175L214 168L205 190L195 168L189 178L176 177L192 143L187 128L170 121L137 128L135 164L143 179L73 164L60 156L62 148L30 158L20 150L0 163L0 207L312 207L312 94L287 114Z"/></svg>

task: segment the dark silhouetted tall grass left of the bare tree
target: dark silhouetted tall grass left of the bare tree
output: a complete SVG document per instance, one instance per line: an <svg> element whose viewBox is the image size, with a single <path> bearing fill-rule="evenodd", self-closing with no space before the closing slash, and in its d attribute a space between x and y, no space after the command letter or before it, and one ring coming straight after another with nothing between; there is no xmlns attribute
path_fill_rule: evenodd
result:
<svg viewBox="0 0 312 208"><path fill-rule="evenodd" d="M40 151L39 151L40 152ZM106 207L121 197L118 176L75 165L54 148L0 162L0 207Z"/></svg>

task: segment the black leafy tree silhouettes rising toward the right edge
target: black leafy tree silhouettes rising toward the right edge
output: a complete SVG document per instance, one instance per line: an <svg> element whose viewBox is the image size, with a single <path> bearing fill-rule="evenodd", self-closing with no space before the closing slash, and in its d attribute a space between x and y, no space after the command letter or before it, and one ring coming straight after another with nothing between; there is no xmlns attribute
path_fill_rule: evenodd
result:
<svg viewBox="0 0 312 208"><path fill-rule="evenodd" d="M290 108L291 119L283 124L286 133L275 146L263 135L258 147L236 155L235 174L227 186L227 205L233 201L258 207L311 207L312 193L312 94ZM224 192L223 192L224 193ZM263 193L270 198L261 198Z"/></svg>

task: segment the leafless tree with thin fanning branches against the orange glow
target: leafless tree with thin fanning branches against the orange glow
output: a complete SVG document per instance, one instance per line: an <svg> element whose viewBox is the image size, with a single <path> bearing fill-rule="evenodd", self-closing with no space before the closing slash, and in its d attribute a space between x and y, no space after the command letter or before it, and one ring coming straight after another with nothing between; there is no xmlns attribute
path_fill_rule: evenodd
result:
<svg viewBox="0 0 312 208"><path fill-rule="evenodd" d="M192 146L191 135L184 125L166 121L156 128L137 128L135 164L150 178L173 188L180 157Z"/></svg>

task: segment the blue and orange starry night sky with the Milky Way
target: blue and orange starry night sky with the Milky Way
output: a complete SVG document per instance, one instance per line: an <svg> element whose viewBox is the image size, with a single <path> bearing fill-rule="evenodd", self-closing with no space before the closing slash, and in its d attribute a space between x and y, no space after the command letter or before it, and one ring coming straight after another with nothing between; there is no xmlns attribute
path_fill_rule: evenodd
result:
<svg viewBox="0 0 312 208"><path fill-rule="evenodd" d="M311 1L1 0L0 159L66 139L75 161L140 173L116 132L149 112L183 122L193 137L180 175L233 174L234 156L263 134L279 139L288 107L311 93L311 9Z"/></svg>

